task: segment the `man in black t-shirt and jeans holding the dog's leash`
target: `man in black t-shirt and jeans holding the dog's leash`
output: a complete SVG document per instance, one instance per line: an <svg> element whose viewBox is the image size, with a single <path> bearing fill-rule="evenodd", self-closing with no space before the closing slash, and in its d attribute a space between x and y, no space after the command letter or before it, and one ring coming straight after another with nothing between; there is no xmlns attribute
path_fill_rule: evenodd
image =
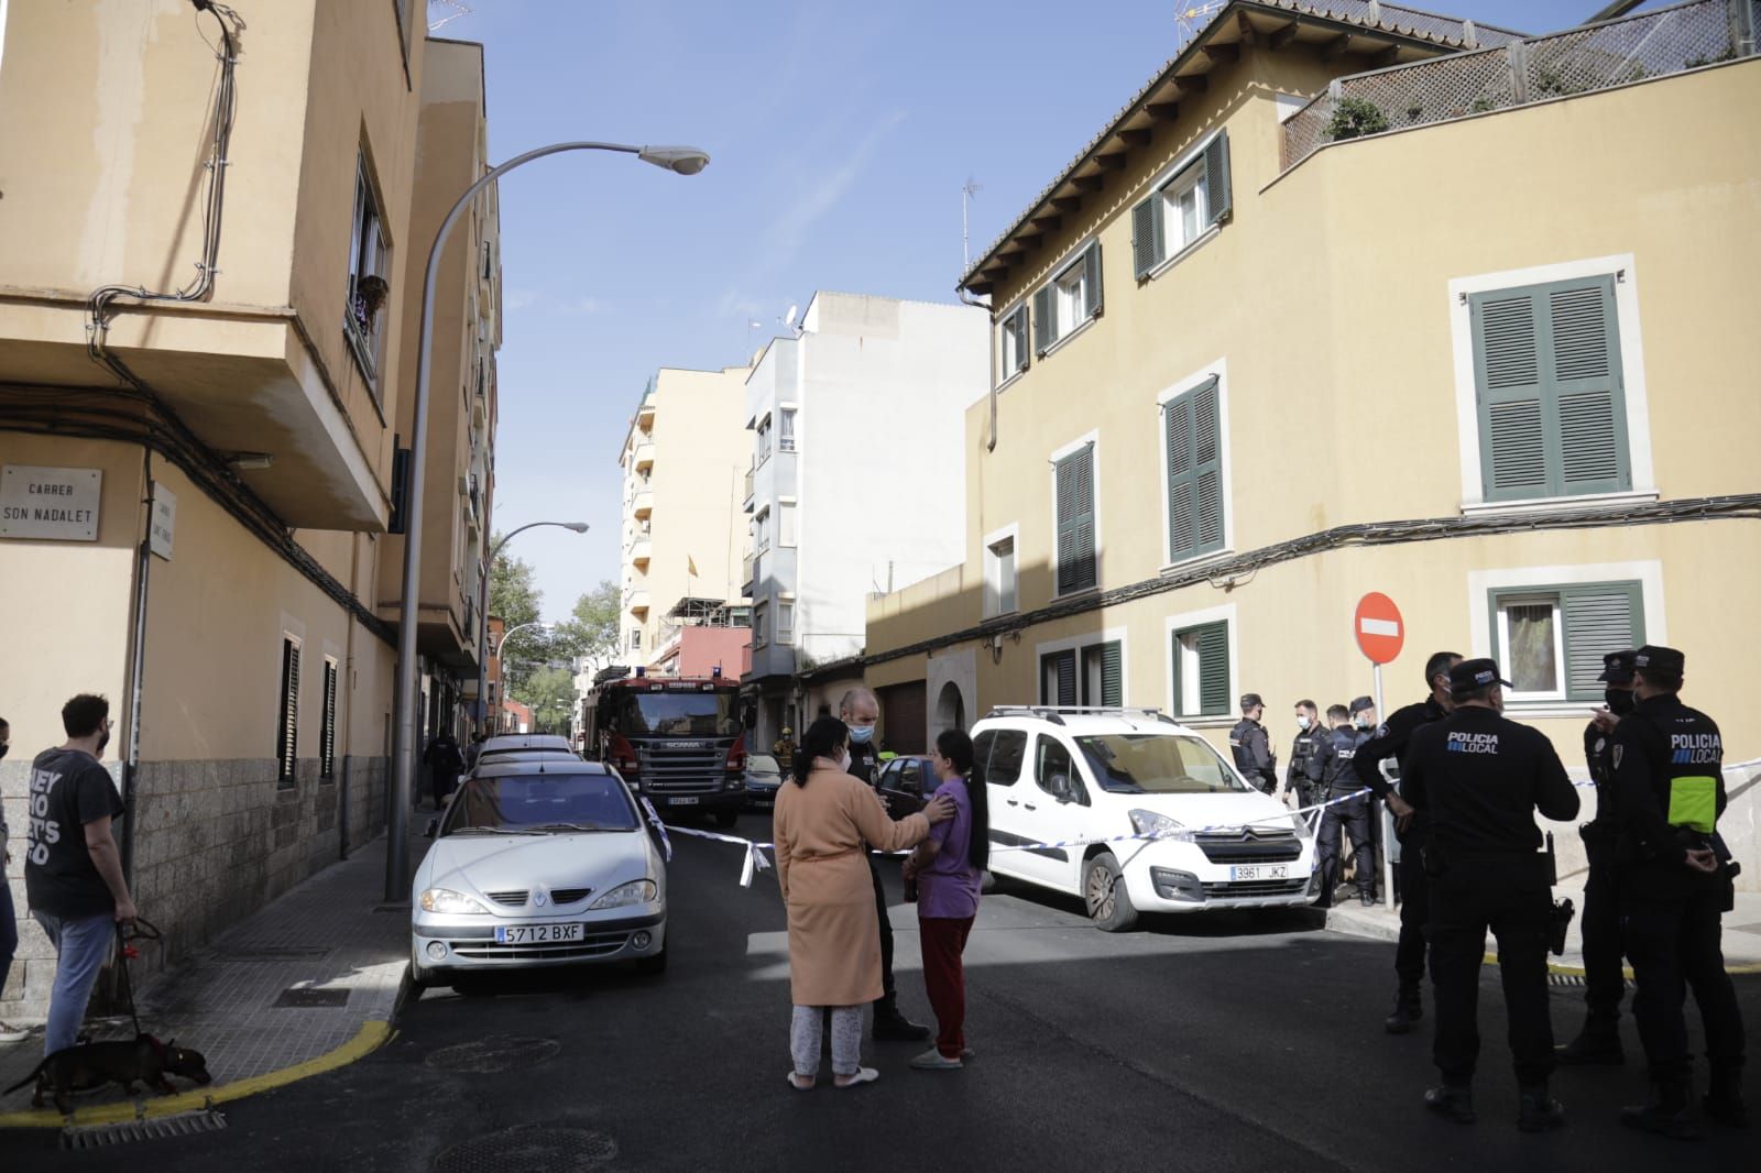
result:
<svg viewBox="0 0 1761 1173"><path fill-rule="evenodd" d="M42 1053L76 1043L116 925L134 923L111 821L123 803L99 764L109 741L109 701L81 694L62 706L67 743L30 764L25 891L55 944L55 990Z"/></svg>

